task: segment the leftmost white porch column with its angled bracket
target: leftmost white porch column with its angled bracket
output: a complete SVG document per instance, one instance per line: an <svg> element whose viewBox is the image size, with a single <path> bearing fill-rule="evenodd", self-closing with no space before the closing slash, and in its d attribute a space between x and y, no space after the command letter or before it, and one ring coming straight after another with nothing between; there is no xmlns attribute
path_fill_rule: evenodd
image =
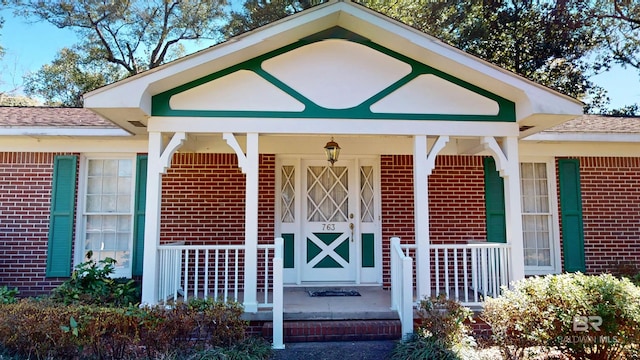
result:
<svg viewBox="0 0 640 360"><path fill-rule="evenodd" d="M160 205L162 174L171 165L171 158L186 140L185 133L176 133L164 148L161 132L149 133L147 165L147 201L144 221L144 260L142 268L142 304L158 303L158 245L160 244Z"/></svg>

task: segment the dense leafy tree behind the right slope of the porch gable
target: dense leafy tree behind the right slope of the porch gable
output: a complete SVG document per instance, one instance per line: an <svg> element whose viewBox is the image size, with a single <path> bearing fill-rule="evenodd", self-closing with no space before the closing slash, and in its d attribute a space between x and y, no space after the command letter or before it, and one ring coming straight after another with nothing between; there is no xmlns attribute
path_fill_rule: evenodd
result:
<svg viewBox="0 0 640 360"><path fill-rule="evenodd" d="M591 67L584 60L600 45L585 1L363 3L567 95L584 99L591 93L600 93L589 81Z"/></svg>

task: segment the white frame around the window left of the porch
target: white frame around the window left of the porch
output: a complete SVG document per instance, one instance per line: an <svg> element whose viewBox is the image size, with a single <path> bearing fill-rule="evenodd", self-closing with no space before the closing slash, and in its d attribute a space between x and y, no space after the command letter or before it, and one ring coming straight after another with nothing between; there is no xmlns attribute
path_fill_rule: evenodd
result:
<svg viewBox="0 0 640 360"><path fill-rule="evenodd" d="M135 222L135 199L136 199L136 180L138 178L137 174L137 154L136 153L85 153L80 155L80 164L79 164L79 177L78 177L78 199L76 204L76 221L75 221L75 241L73 246L73 266L77 266L78 264L85 262L85 227L87 223L87 213L86 213L86 199L87 199L87 186L88 186L88 176L89 176L89 161L90 160L130 160L131 161L131 204L129 207L129 216L130 216L130 229L131 236L129 238L129 256L130 261L128 268L125 270L116 270L112 276L114 278L118 277L133 277L133 256L134 256L134 222Z"/></svg>

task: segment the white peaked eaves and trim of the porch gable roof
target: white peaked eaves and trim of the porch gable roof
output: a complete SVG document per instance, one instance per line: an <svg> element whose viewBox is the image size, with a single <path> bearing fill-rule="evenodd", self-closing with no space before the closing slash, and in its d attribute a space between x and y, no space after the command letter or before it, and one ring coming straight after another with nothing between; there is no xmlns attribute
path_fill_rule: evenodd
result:
<svg viewBox="0 0 640 360"><path fill-rule="evenodd" d="M129 121L145 123L151 98L185 83L282 49L301 39L340 27L466 83L513 101L516 121L542 131L582 114L582 103L501 69L438 39L351 2L322 4L229 41L85 95L91 108L132 133L145 133Z"/></svg>

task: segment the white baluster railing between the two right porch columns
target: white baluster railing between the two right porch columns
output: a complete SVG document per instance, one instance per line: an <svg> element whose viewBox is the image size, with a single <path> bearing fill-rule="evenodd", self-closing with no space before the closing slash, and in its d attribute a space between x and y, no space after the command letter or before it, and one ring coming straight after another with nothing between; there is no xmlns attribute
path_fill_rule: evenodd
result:
<svg viewBox="0 0 640 360"><path fill-rule="evenodd" d="M465 306L500 295L510 281L510 249L500 243L431 244L432 294L445 294Z"/></svg>

